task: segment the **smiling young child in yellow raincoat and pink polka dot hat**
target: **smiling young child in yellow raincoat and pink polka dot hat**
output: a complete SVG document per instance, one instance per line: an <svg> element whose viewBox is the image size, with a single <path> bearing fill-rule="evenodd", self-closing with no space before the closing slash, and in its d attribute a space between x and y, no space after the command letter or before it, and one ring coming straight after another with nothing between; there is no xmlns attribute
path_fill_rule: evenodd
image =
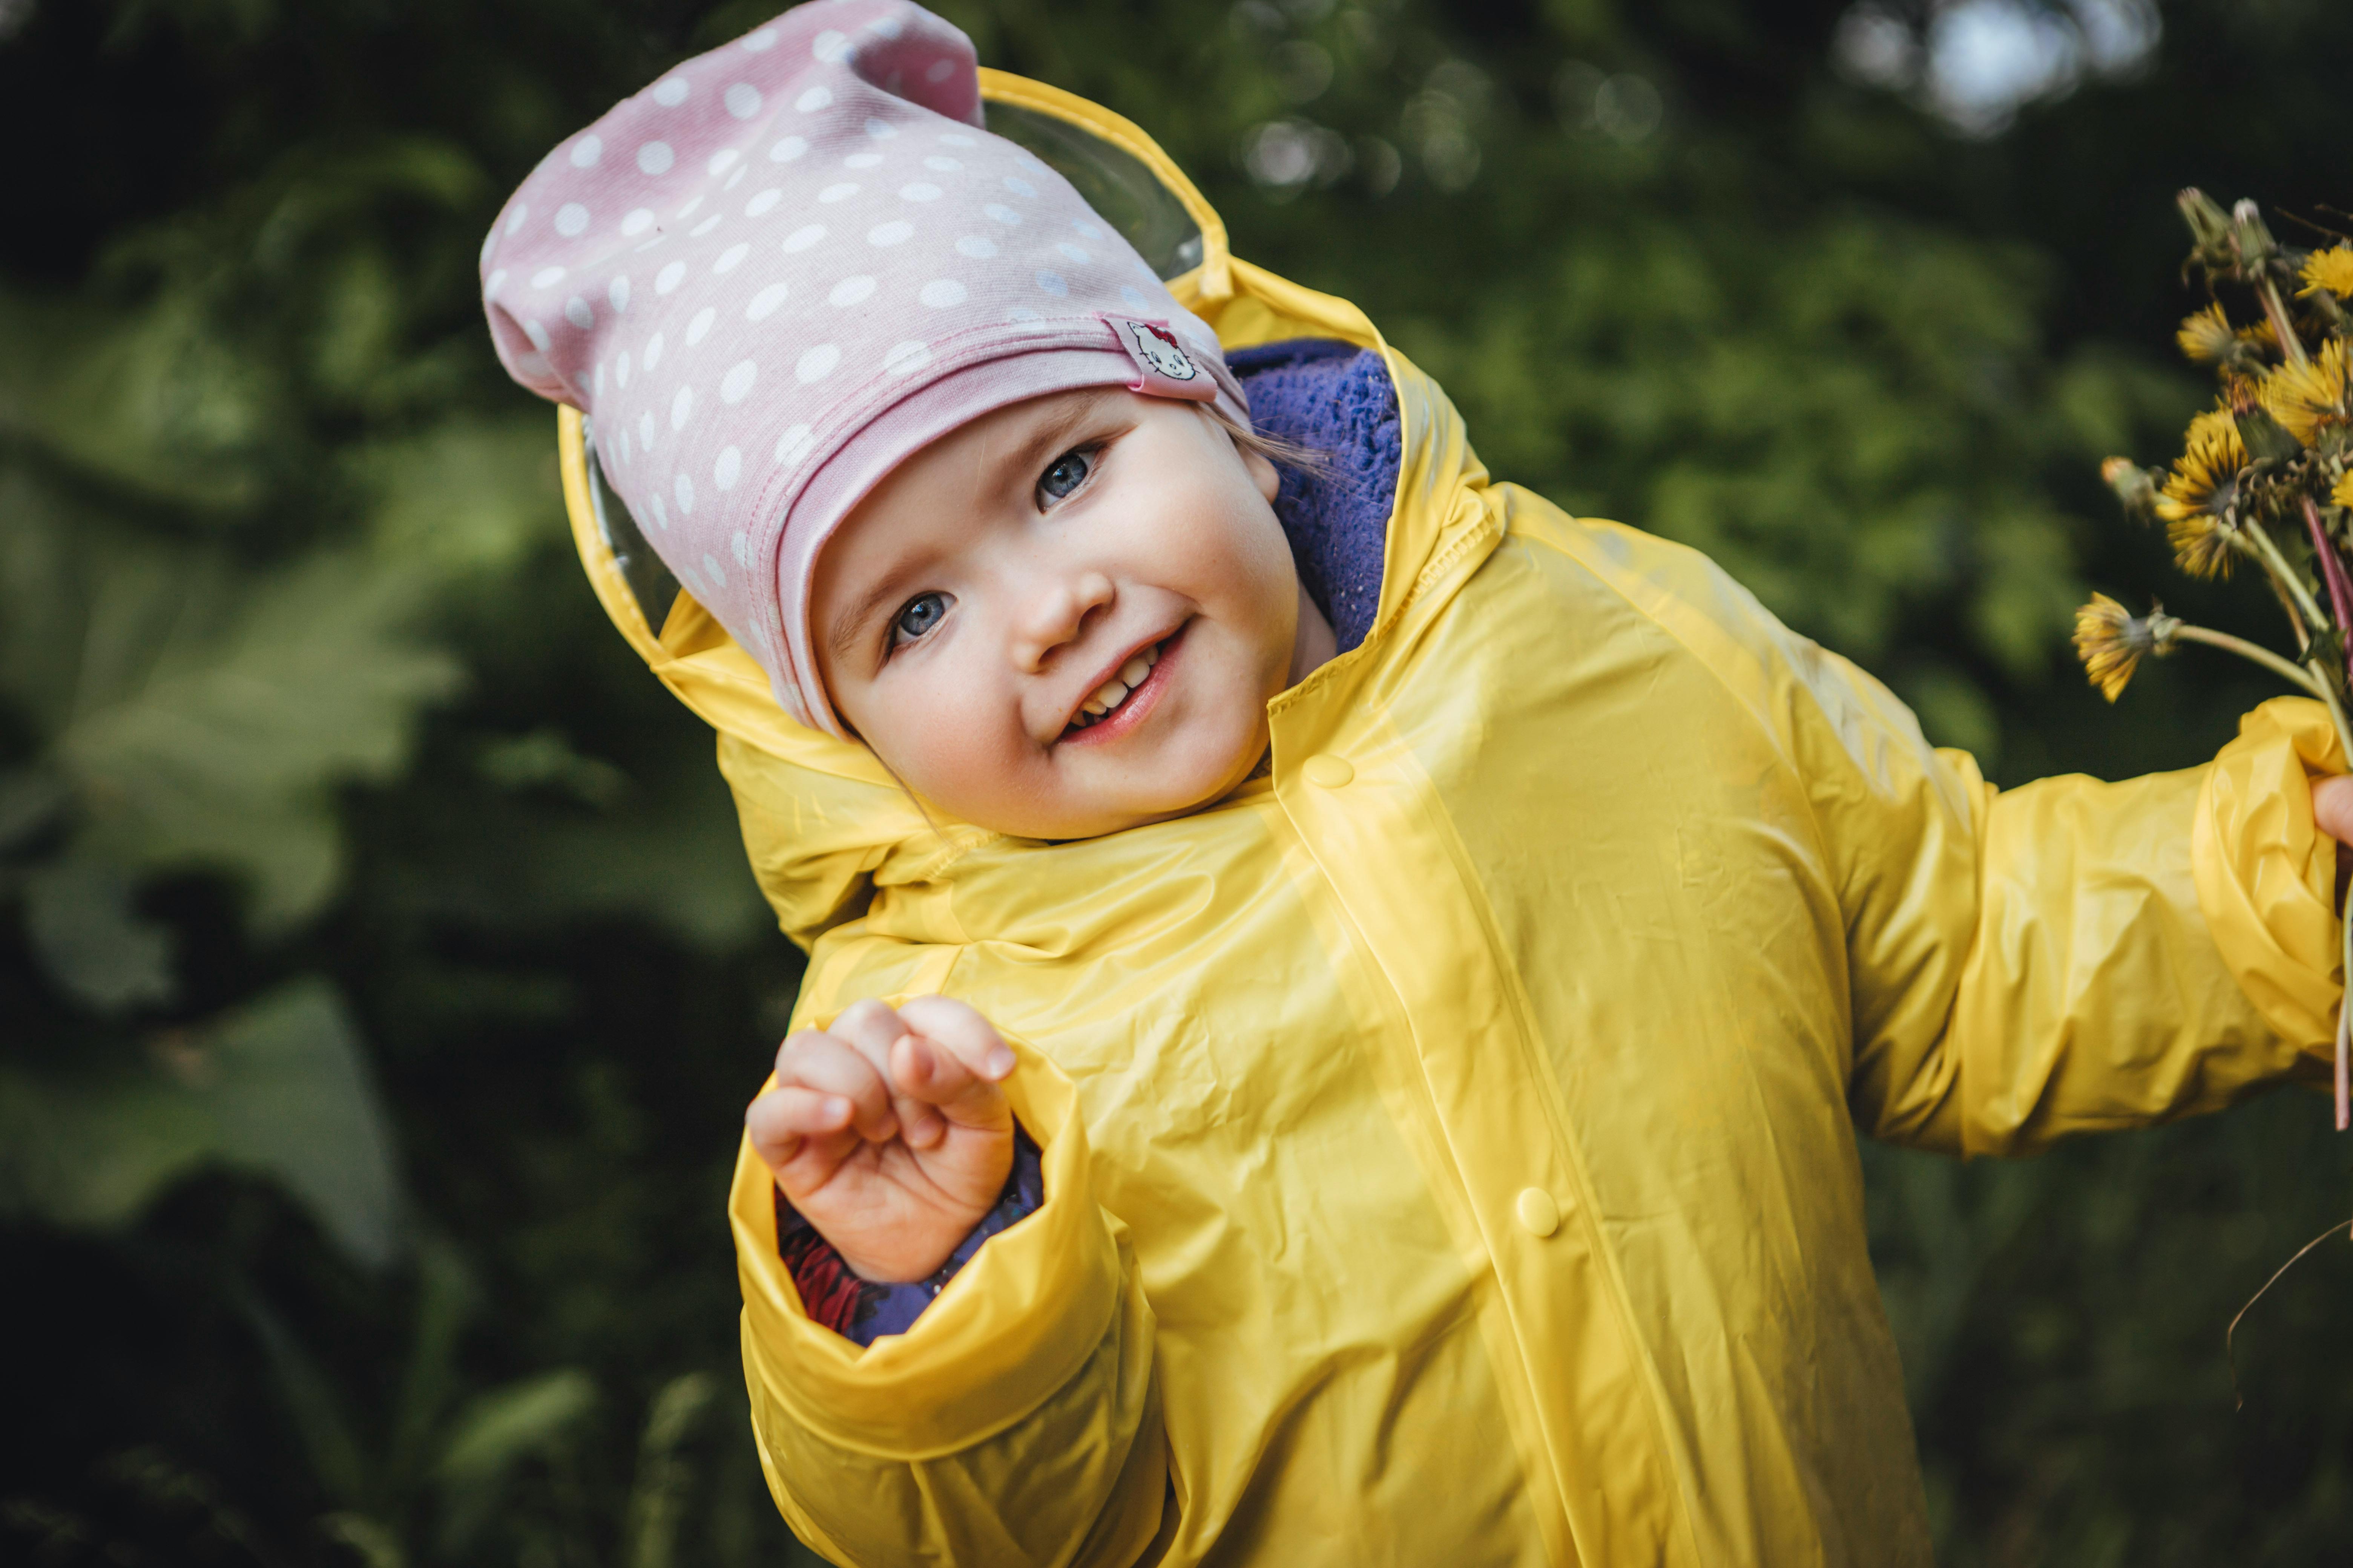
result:
<svg viewBox="0 0 2353 1568"><path fill-rule="evenodd" d="M1174 294L901 0L664 75L482 256L809 950L732 1194L793 1530L1925 1563L1857 1135L2325 1074L2327 724L1995 792L1706 559L1489 482L1134 127L991 96L1188 202Z"/></svg>

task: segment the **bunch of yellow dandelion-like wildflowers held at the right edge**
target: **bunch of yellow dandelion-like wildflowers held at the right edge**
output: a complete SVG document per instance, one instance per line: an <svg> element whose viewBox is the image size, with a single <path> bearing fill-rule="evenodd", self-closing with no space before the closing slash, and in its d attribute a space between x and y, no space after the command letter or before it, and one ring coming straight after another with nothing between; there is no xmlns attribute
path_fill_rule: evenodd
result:
<svg viewBox="0 0 2353 1568"><path fill-rule="evenodd" d="M2294 628L2297 656L2188 625L2151 609L2129 614L2106 595L2075 611L2075 651L2092 684L2113 703L2141 658L2184 642L2228 649L2320 698L2337 741L2353 759L2346 724L2346 644L2353 637L2353 242L2301 252L2273 240L2254 202L2231 212L2202 190L2184 190L2191 226L2184 273L2209 294L2252 299L2259 315L2231 320L2221 299L2181 322L2181 353L2214 369L2214 407L2191 421L2172 470L2108 458L2101 477L2125 510L2165 522L2174 564L2198 578L2231 576L2240 562L2261 569ZM2346 978L2353 980L2353 922L2346 926ZM2337 1131L2353 1124L2353 1034L2337 1020Z"/></svg>

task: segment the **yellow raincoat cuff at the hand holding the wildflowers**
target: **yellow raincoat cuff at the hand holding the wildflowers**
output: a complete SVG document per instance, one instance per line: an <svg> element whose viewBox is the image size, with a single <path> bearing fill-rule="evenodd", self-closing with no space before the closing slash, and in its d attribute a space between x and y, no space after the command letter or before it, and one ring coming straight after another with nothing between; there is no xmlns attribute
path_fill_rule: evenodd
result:
<svg viewBox="0 0 2353 1568"><path fill-rule="evenodd" d="M2301 1051L2337 1041L2337 842L2313 823L2313 780L2344 773L2327 710L2273 698L2238 722L2198 792L2191 870L2224 964L2264 1023Z"/></svg>

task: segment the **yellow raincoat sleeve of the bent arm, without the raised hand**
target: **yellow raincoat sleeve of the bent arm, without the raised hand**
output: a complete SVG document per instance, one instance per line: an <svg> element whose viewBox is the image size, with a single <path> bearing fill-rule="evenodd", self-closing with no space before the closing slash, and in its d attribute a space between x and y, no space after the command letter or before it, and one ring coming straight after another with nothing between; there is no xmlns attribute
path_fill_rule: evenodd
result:
<svg viewBox="0 0 2353 1568"><path fill-rule="evenodd" d="M802 1309L767 1166L736 1154L744 1378L769 1490L835 1563L1127 1566L1169 1497L1153 1314L1089 1190L1061 1074L1021 1041L1007 1084L1045 1204L991 1237L906 1333L859 1347Z"/></svg>

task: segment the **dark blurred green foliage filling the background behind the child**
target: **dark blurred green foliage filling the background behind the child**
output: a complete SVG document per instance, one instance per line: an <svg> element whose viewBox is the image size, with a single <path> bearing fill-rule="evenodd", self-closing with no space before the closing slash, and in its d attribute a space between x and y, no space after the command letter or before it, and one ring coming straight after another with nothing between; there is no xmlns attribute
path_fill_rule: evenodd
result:
<svg viewBox="0 0 2353 1568"><path fill-rule="evenodd" d="M798 1554L722 1225L798 957L473 282L548 146L767 9L0 2L12 1559ZM2341 5L2172 0L1991 136L1857 80L1842 0L941 9L1358 299L1497 473L1711 550L1998 778L2186 766L2266 696L2184 658L2111 712L2061 637L2085 583L2254 614L2092 468L2200 397L2172 188L2346 200ZM2247 1316L2245 1408L2221 1338L2348 1211L2320 1128L1868 1152L1946 1561L2332 1556L2353 1248Z"/></svg>

